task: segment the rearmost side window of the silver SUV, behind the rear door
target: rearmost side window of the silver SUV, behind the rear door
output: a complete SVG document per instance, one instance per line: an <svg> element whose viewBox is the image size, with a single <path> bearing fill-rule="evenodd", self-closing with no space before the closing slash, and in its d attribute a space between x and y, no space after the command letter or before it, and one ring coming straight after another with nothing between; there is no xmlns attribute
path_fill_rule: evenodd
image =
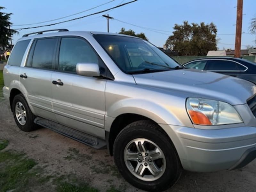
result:
<svg viewBox="0 0 256 192"><path fill-rule="evenodd" d="M20 66L23 55L28 47L29 40L19 41L12 50L12 54L8 60L8 65Z"/></svg>

